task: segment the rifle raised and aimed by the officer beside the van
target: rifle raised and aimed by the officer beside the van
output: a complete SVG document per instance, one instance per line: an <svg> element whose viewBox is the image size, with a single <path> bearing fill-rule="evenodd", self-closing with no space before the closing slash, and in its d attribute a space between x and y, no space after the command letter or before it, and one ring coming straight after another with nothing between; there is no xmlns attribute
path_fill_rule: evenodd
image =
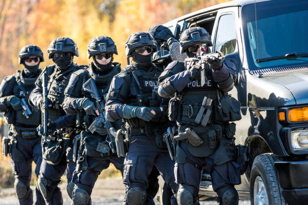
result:
<svg viewBox="0 0 308 205"><path fill-rule="evenodd" d="M201 52L197 54L196 57L186 58L184 60L186 70L191 69L193 66L196 66L197 69L201 70L201 87L205 84L205 79L207 73L211 69L211 64L209 61L221 61L224 60L224 57L221 53L204 53Z"/></svg>

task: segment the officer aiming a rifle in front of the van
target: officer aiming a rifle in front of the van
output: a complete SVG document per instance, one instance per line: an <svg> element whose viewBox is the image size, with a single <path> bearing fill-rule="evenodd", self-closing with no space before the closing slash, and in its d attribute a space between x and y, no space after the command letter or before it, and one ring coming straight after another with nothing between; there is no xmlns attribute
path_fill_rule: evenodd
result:
<svg viewBox="0 0 308 205"><path fill-rule="evenodd" d="M209 46L212 46L210 35L201 27L189 28L181 34L181 53L186 52L188 57L194 57L200 49L210 53ZM177 200L182 205L197 204L203 166L211 175L219 204L239 201L234 187L241 183L240 168L234 162L235 124L222 117L223 109L232 110L226 92L233 88L234 82L225 64L208 62L211 69L206 72L203 86L200 69L192 66L186 70L179 61L170 63L159 77L159 94L174 96L169 109L171 120L178 124L174 172L179 184Z"/></svg>

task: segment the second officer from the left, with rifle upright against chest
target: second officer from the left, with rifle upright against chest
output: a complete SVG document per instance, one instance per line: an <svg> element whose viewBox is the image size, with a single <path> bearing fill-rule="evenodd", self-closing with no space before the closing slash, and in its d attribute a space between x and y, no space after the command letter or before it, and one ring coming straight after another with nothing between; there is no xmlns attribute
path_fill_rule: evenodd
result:
<svg viewBox="0 0 308 205"><path fill-rule="evenodd" d="M75 163L72 161L72 140L75 136L75 116L65 115L62 108L64 90L68 84L71 73L82 69L73 63L73 56L79 56L78 48L73 40L67 37L54 39L48 48L48 58L53 65L45 67L43 72L47 74L48 90L48 120L49 130L52 132L47 139L42 139L43 161L37 187L40 189L47 204L62 204L62 194L57 186L61 176L67 169L67 191L71 195L73 184L70 183ZM32 104L40 108L42 102L42 78L41 74L35 82L35 89L30 94ZM65 129L64 129L65 128Z"/></svg>

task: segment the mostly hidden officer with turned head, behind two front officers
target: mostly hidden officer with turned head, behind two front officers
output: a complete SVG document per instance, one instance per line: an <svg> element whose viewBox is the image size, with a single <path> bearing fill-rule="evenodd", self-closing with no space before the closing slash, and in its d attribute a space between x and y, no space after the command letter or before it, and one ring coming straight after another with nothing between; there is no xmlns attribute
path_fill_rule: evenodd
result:
<svg viewBox="0 0 308 205"><path fill-rule="evenodd" d="M162 49L162 45L170 38L174 39L174 35L171 32L171 30L163 25L156 25L156 26L152 26L148 29L147 31L155 40L157 43L157 49L158 51L153 53L152 56L152 60L157 60L155 62L155 64L158 64L159 66L167 66L169 63L172 62L172 59L169 55L169 57L167 58L161 58L162 57L162 51L163 56L167 56L169 54L169 47L168 44L167 46L164 46ZM165 45L166 45L165 43ZM155 166L153 166L152 172L149 176L150 179L157 181L158 183L158 176L160 175L160 172L157 170L157 168ZM150 183L149 183L150 184ZM158 186L159 188L159 186ZM158 189L157 189L158 190ZM155 195L155 194L154 194ZM165 182L164 186L163 186L163 196L162 196L162 202L163 204L170 204L170 198L172 197L173 193L171 188L167 185L167 183Z"/></svg>

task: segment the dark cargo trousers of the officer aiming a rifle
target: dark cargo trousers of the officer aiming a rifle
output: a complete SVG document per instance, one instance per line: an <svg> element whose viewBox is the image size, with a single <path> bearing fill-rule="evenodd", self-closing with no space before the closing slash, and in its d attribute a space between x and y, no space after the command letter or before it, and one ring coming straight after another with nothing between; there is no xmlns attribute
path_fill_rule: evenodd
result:
<svg viewBox="0 0 308 205"><path fill-rule="evenodd" d="M186 143L179 141L179 146L185 152L188 160L185 163L175 163L174 174L176 183L194 187L194 192L192 193L194 202L197 201L202 167L210 174L214 191L229 184L237 185L241 183L241 170L238 163L228 161L221 165L216 165L213 159L214 154L208 157L196 157L189 152ZM198 165L198 168L196 168L196 165Z"/></svg>

